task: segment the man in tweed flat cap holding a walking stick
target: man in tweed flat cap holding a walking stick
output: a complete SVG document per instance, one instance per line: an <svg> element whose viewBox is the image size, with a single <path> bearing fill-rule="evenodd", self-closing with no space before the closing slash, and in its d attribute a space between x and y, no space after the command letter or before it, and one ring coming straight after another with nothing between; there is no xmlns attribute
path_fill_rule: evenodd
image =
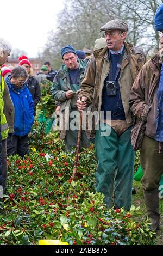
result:
<svg viewBox="0 0 163 256"><path fill-rule="evenodd" d="M96 191L105 196L108 208L124 206L130 210L135 153L131 146L130 132L133 117L129 108L130 89L146 62L140 48L126 41L128 25L123 20L111 20L104 31L106 47L93 52L82 82L77 106L79 111L92 104L97 111L95 136L97 155ZM107 132L103 132L105 127Z"/></svg>

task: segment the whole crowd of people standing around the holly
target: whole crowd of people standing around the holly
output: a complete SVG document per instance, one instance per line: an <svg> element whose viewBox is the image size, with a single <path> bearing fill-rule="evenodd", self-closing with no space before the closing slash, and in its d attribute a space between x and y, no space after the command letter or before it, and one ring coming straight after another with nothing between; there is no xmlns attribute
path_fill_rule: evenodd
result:
<svg viewBox="0 0 163 256"><path fill-rule="evenodd" d="M163 4L156 11L154 27L163 32ZM141 179L151 229L159 230L159 182L163 174L163 36L160 51L147 61L139 47L126 42L128 25L121 19L101 27L105 38L90 48L61 48L63 65L54 71L43 63L37 77L26 56L12 70L4 68L11 45L0 39L1 150L0 185L5 191L7 155L28 154L40 84L52 81L51 94L60 115L60 138L65 150L76 147L79 115L82 125L80 149L95 139L96 191L105 204L130 210L135 151L140 149ZM93 115L92 115L93 113ZM90 126L92 124L92 126ZM88 128L89 127L89 128ZM94 142L94 141L93 141Z"/></svg>

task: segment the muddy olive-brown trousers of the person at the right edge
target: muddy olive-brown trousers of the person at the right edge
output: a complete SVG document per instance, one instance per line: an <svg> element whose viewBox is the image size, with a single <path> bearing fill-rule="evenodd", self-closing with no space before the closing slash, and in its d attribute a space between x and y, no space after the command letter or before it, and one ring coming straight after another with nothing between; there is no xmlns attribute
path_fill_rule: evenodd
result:
<svg viewBox="0 0 163 256"><path fill-rule="evenodd" d="M159 192L159 183L163 174L163 143L160 145L159 153L159 142L145 135L140 151L140 163L144 172L141 182L153 230L158 230L160 223L159 197L162 198L162 187Z"/></svg>

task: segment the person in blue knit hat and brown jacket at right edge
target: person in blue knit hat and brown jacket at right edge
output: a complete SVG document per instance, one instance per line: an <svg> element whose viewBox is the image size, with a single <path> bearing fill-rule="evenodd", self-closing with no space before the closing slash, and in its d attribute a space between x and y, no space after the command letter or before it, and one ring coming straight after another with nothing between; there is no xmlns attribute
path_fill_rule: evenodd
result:
<svg viewBox="0 0 163 256"><path fill-rule="evenodd" d="M163 4L155 14L155 29L163 32ZM131 131L133 148L140 149L140 163L143 169L141 179L147 214L151 229L159 230L159 198L162 198L163 174L163 48L149 60L137 76L129 104L135 115ZM159 192L160 189L160 192Z"/></svg>

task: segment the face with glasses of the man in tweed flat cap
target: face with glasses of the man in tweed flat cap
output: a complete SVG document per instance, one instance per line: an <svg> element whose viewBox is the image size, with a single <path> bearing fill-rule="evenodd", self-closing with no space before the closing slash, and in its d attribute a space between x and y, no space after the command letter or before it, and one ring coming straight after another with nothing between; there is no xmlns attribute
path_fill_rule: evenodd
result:
<svg viewBox="0 0 163 256"><path fill-rule="evenodd" d="M105 31L106 44L108 49L119 51L122 48L123 41L126 38L126 32L116 30Z"/></svg>

